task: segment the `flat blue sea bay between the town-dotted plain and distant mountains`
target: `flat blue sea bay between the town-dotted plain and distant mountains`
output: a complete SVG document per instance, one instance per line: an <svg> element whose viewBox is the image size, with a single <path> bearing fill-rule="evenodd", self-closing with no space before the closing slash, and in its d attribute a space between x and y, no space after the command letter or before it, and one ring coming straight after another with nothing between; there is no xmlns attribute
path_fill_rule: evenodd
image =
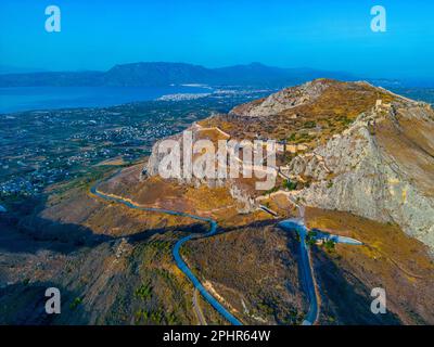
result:
<svg viewBox="0 0 434 347"><path fill-rule="evenodd" d="M0 88L0 114L34 110L106 107L169 94L205 94L207 86Z"/></svg>

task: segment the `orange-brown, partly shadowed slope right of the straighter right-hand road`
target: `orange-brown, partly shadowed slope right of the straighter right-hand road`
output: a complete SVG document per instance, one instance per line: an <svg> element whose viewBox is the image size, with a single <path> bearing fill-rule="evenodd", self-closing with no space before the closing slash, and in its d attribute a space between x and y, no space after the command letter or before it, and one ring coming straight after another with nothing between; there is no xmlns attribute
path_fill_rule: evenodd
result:
<svg viewBox="0 0 434 347"><path fill-rule="evenodd" d="M370 312L373 287L386 291L387 323L433 324L434 262L421 242L398 227L347 213L308 208L309 228L356 237L366 245L336 245L328 254L315 249L315 269L322 293L322 323L376 323ZM355 300L358 300L355 303ZM352 304L354 303L354 305ZM398 320L398 321L397 321Z"/></svg>

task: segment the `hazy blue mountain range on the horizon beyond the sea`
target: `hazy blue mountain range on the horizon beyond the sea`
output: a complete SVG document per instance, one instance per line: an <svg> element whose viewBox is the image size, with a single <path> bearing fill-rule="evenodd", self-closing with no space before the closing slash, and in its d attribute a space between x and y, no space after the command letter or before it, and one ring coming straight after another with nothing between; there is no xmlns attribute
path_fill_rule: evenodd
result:
<svg viewBox="0 0 434 347"><path fill-rule="evenodd" d="M280 68L260 63L207 68L184 63L133 63L107 72L40 72L0 75L0 87L163 87L182 83L280 87L327 77L355 80L346 73Z"/></svg>

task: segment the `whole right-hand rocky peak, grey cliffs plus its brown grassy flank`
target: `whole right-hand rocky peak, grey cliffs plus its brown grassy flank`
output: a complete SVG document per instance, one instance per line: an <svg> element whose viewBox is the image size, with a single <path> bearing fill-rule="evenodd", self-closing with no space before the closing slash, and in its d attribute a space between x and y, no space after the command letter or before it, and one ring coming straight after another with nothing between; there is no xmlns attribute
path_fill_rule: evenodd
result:
<svg viewBox="0 0 434 347"><path fill-rule="evenodd" d="M295 195L309 206L397 223L433 248L433 112L423 105L363 114L290 163L292 175L312 180Z"/></svg>

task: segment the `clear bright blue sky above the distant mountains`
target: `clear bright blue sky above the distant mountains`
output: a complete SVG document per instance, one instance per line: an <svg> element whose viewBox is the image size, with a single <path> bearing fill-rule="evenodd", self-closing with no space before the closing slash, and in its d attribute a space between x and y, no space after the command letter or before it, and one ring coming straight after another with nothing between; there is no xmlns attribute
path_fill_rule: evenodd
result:
<svg viewBox="0 0 434 347"><path fill-rule="evenodd" d="M59 5L62 31L44 30ZM370 9L387 10L372 33ZM0 65L107 69L139 61L261 62L366 77L434 78L430 0L1 0Z"/></svg>

